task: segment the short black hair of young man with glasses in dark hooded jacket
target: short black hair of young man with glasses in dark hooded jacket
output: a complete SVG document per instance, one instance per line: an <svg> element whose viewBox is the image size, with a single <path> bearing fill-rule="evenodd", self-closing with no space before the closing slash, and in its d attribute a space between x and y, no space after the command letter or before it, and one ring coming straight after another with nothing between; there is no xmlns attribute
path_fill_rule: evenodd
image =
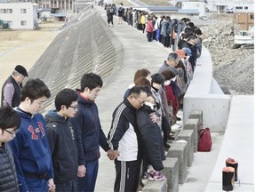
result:
<svg viewBox="0 0 256 192"><path fill-rule="evenodd" d="M57 111L60 111L61 106L65 105L68 108L72 102L78 99L78 94L71 89L63 89L57 93L54 104Z"/></svg>

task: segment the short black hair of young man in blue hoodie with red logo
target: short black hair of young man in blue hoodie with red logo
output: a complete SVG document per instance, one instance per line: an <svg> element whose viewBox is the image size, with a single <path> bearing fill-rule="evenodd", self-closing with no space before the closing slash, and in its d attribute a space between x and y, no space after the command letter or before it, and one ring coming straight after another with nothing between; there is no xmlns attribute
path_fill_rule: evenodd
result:
<svg viewBox="0 0 256 192"><path fill-rule="evenodd" d="M44 84L44 82L39 78L31 78L28 80L27 84L22 87L20 101L24 101L28 97L29 100L33 102L34 100L44 96L46 98L51 97L51 92L46 84Z"/></svg>

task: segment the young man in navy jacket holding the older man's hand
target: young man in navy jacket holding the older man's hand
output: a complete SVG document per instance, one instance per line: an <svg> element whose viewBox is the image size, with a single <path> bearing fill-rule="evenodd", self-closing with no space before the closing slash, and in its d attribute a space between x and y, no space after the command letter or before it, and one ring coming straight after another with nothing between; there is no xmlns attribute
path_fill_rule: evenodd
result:
<svg viewBox="0 0 256 192"><path fill-rule="evenodd" d="M76 133L78 149L77 191L94 191L98 175L100 147L109 159L118 156L108 148L107 138L101 129L98 107L95 103L102 87L102 79L94 73L84 74L81 89L77 89L77 115L70 118Z"/></svg>

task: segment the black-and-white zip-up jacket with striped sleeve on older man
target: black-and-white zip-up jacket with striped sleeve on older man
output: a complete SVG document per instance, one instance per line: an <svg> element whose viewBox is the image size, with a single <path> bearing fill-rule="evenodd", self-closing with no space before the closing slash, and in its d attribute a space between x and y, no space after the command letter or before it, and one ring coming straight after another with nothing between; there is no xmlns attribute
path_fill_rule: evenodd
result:
<svg viewBox="0 0 256 192"><path fill-rule="evenodd" d="M117 106L108 132L108 146L118 150L119 161L134 161L140 157L140 137L136 123L136 108L128 100Z"/></svg>

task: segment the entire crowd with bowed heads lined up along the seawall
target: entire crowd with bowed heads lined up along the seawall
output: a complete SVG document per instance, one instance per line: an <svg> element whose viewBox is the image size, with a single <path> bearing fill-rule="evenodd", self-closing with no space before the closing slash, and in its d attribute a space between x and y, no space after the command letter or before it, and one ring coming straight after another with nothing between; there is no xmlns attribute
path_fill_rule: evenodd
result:
<svg viewBox="0 0 256 192"><path fill-rule="evenodd" d="M106 10L110 27L116 8L112 4ZM99 75L84 74L76 91L60 90L55 109L43 116L40 109L51 97L50 90L36 78L22 86L28 72L16 66L2 88L0 191L94 191L100 148L116 165L114 191L136 191L141 178L165 179L160 172L164 150L175 140L172 125L180 120L177 113L201 55L202 32L188 18L146 17L132 8L118 9L117 16L119 25L125 21L145 30L148 41L172 46L174 52L156 73L136 71L113 112L107 136L95 103L103 84Z"/></svg>

